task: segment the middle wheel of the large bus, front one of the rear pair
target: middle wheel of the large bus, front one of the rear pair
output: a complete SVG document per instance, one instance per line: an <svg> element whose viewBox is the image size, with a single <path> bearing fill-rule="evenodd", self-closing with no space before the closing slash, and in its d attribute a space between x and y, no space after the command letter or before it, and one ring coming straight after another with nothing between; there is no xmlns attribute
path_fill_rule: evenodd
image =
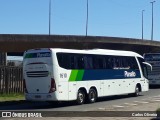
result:
<svg viewBox="0 0 160 120"><path fill-rule="evenodd" d="M97 92L95 89L91 88L89 90L89 94L88 94L88 102L89 103L94 103L97 100Z"/></svg>

